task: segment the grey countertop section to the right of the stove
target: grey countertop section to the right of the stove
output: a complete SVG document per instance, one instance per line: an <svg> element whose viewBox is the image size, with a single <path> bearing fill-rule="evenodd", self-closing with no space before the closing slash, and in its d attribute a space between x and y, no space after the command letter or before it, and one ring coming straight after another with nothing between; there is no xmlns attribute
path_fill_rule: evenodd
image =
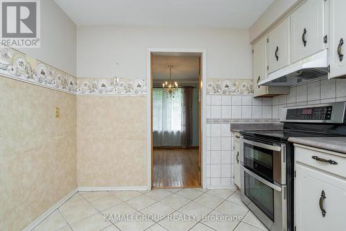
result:
<svg viewBox="0 0 346 231"><path fill-rule="evenodd" d="M289 142L346 154L346 137L291 137Z"/></svg>

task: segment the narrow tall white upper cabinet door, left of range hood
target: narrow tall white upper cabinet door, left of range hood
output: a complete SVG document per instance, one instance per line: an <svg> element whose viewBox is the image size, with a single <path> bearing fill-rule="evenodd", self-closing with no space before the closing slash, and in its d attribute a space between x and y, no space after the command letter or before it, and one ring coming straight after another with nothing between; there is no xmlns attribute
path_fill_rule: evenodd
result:
<svg viewBox="0 0 346 231"><path fill-rule="evenodd" d="M253 44L253 96L267 94L268 87L257 83L266 79L266 37Z"/></svg>

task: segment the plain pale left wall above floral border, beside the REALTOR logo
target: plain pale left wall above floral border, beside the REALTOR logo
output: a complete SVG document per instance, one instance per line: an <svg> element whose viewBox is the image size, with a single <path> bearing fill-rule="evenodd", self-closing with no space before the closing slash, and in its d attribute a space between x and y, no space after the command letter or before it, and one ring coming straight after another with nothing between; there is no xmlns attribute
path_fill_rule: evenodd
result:
<svg viewBox="0 0 346 231"><path fill-rule="evenodd" d="M19 49L48 65L76 75L76 26L53 0L41 2L41 48Z"/></svg>

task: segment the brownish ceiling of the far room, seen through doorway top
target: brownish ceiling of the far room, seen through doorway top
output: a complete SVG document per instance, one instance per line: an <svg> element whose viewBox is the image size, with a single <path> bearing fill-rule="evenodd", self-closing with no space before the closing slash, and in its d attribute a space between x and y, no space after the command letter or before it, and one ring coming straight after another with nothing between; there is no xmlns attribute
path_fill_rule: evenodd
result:
<svg viewBox="0 0 346 231"><path fill-rule="evenodd" d="M153 80L154 82L169 80L172 67L172 80L178 82L198 82L199 56L197 55L154 55Z"/></svg>

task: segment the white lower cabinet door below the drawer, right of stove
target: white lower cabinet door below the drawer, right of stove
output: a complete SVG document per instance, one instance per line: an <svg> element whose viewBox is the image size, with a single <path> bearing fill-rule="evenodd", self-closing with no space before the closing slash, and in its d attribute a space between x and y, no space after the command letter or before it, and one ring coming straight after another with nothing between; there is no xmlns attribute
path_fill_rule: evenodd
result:
<svg viewBox="0 0 346 231"><path fill-rule="evenodd" d="M296 230L345 230L346 181L299 163L295 171Z"/></svg>

